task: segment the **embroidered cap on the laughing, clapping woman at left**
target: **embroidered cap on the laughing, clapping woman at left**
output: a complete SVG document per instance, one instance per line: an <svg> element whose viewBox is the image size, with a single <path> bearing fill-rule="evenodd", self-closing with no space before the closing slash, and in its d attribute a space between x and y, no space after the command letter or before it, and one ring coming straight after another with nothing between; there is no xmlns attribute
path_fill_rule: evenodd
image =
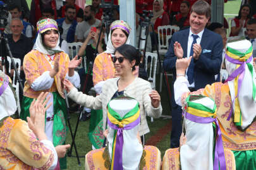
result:
<svg viewBox="0 0 256 170"><path fill-rule="evenodd" d="M58 31L58 25L55 20L47 18L37 22L37 32L44 33L45 31L48 30Z"/></svg>

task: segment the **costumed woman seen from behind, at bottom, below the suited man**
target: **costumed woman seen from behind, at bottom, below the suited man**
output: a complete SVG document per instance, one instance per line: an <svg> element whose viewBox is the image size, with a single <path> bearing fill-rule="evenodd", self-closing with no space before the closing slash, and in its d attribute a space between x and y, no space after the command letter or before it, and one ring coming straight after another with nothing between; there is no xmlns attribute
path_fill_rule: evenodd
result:
<svg viewBox="0 0 256 170"><path fill-rule="evenodd" d="M236 169L233 152L228 149L224 152L216 110L214 100L209 97L186 98L183 105L186 135L181 134L180 148L166 150L162 169Z"/></svg>

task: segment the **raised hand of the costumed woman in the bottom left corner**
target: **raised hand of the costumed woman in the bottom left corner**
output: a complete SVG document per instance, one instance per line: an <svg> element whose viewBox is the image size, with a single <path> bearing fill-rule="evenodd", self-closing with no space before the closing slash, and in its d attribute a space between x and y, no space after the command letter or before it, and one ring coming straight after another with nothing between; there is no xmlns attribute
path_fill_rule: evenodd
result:
<svg viewBox="0 0 256 170"><path fill-rule="evenodd" d="M45 116L46 110L51 106L46 106L51 96L46 96L48 93L41 93L37 100L30 105L30 117L27 117L28 127L35 133L39 140L47 139L45 131Z"/></svg>

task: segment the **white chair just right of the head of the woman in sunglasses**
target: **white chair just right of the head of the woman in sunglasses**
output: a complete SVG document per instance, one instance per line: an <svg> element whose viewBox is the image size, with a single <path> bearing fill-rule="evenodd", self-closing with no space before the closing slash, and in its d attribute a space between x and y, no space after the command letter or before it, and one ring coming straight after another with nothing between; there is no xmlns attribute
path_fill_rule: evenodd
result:
<svg viewBox="0 0 256 170"><path fill-rule="evenodd" d="M157 70L157 54L152 52L146 52L145 55L145 71L149 76L148 81L151 84L151 88L155 89L155 74ZM154 122L154 118L151 117L151 122Z"/></svg>

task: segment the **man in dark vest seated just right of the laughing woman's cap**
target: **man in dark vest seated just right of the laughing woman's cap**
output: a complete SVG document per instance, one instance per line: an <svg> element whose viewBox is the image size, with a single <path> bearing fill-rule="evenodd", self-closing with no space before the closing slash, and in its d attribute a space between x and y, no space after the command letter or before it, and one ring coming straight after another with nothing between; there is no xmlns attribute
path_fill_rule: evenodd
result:
<svg viewBox="0 0 256 170"><path fill-rule="evenodd" d="M66 6L65 16L66 18L61 18L56 20L58 26L63 28L63 34L61 38L66 40L66 42L71 43L75 40L75 31L77 22L75 20L76 9L74 6Z"/></svg>

